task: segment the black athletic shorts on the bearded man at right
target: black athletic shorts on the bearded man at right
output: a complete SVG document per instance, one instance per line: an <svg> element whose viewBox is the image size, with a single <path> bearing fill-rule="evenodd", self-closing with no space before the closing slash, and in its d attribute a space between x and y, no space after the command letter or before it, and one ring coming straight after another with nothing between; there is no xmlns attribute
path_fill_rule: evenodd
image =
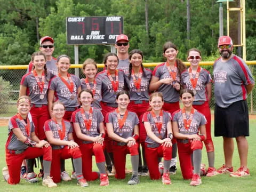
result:
<svg viewBox="0 0 256 192"><path fill-rule="evenodd" d="M249 114L247 101L237 101L227 108L215 104L214 136L236 138L249 136Z"/></svg>

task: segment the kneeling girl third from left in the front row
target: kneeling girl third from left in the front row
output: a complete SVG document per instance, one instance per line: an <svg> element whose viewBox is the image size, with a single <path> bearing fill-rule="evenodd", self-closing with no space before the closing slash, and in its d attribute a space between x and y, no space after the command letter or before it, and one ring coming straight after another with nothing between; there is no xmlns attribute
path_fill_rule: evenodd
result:
<svg viewBox="0 0 256 192"><path fill-rule="evenodd" d="M105 137L103 115L99 109L91 107L93 102L91 90L82 90L78 94L78 99L82 107L73 113L71 121L82 151L83 175L89 181L99 178L97 172L92 172L92 155L95 155L96 164L100 172L100 186L108 186L109 182L103 153Z"/></svg>

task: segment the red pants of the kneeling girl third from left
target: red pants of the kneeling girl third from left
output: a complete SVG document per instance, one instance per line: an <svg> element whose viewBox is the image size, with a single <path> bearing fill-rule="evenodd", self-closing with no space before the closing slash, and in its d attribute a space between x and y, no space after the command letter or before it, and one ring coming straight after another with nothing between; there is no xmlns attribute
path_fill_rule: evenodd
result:
<svg viewBox="0 0 256 192"><path fill-rule="evenodd" d="M93 143L80 145L80 149L82 152L84 179L88 181L93 181L99 178L97 172L92 172L92 156L95 155L96 163L105 162L103 148L104 147L99 143L95 143L94 145Z"/></svg>

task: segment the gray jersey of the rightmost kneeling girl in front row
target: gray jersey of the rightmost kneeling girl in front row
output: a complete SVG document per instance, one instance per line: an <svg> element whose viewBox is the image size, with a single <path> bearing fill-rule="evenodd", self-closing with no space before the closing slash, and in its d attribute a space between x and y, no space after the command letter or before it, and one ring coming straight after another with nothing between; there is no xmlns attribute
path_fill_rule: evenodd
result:
<svg viewBox="0 0 256 192"><path fill-rule="evenodd" d="M186 118L188 120L189 115L186 115ZM177 110L173 113L172 121L177 122L179 132L182 134L197 134L199 132L199 127L207 123L205 116L201 114L198 110L195 110L190 126L188 129L186 129L183 122L182 109Z"/></svg>

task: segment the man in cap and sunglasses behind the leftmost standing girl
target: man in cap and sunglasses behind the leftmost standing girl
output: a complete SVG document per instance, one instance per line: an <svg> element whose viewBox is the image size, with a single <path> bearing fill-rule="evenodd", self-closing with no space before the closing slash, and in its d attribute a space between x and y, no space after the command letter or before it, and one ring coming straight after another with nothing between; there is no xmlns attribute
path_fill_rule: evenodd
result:
<svg viewBox="0 0 256 192"><path fill-rule="evenodd" d="M57 59L52 57L54 52L54 40L52 37L44 36L40 39L40 47L39 50L45 54L46 57L46 67L47 72L51 73L53 76L58 74L58 69L56 66ZM32 61L28 64L27 73L29 73L33 69Z"/></svg>

